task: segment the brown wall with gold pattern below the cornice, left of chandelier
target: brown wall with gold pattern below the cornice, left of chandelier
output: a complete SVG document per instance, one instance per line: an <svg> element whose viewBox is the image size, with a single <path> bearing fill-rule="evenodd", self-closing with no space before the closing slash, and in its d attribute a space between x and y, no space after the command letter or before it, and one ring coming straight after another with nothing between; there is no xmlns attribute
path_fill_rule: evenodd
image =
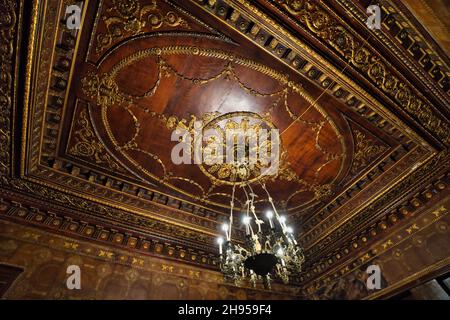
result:
<svg viewBox="0 0 450 320"><path fill-rule="evenodd" d="M0 246L0 264L24 270L6 292L6 299L299 298L296 288L277 284L273 291L235 287L223 283L219 272L57 236L4 220L0 220ZM69 265L81 268L81 290L67 289Z"/></svg>

